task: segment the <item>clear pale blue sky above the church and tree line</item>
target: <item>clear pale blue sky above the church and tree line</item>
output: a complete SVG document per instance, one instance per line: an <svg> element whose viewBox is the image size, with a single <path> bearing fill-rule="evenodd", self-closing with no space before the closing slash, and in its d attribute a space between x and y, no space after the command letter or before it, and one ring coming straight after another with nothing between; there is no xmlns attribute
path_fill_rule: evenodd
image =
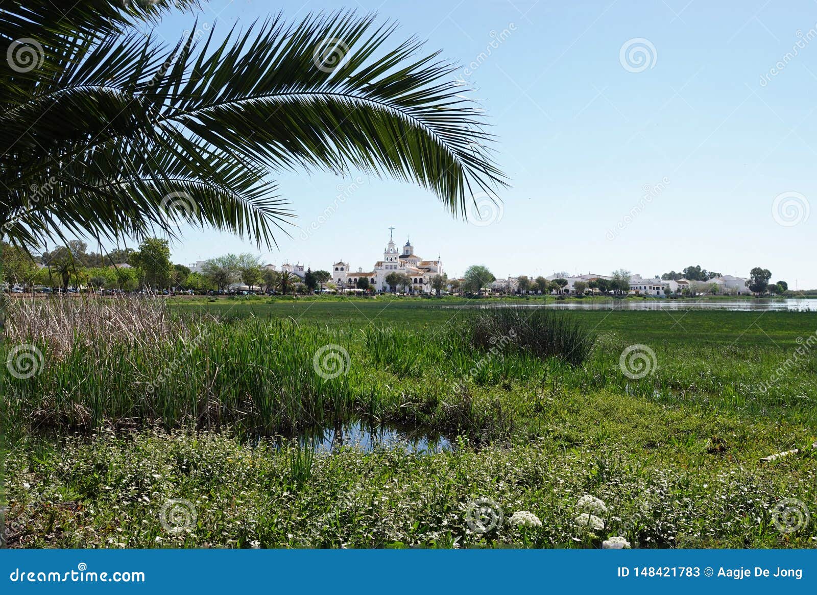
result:
<svg viewBox="0 0 817 595"><path fill-rule="evenodd" d="M817 2L213 0L199 23L224 32L270 11L292 20L341 7L396 20L395 41L417 34L463 66L492 32L509 30L468 81L512 188L501 220L475 226L454 221L431 192L364 177L308 239L293 228L266 261L328 269L343 258L369 271L395 226L400 244L410 234L420 256L441 254L449 275L475 263L497 276L622 267L647 276L695 264L747 275L763 266L773 281L817 288ZM193 20L175 15L158 31L175 41ZM634 38L654 47L642 43L641 72L620 59ZM303 227L342 182L320 172L278 179ZM800 210L775 218L775 197L791 192ZM806 208L815 213L803 220ZM172 249L183 263L244 251L257 252L210 230L185 231Z"/></svg>

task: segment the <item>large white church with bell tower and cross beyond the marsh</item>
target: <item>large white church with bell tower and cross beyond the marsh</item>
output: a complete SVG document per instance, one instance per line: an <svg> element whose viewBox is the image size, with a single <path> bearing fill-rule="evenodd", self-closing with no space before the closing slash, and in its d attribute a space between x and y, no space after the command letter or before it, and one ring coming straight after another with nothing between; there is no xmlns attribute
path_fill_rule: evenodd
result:
<svg viewBox="0 0 817 595"><path fill-rule="evenodd" d="M411 241L406 241L403 247L403 253L400 254L395 248L394 227L389 228L389 244L383 251L383 259L374 263L374 270L371 272L364 272L363 268L358 267L357 272L352 271L348 262L336 262L333 264L332 280L337 284L338 289L354 288L359 279L367 279L373 289L378 292L391 291L389 284L386 283L386 277L391 273L402 273L408 275L411 280L409 289L413 293L430 293L431 280L435 275L443 274L443 263L440 257L437 260L426 261L422 260L414 253L414 247Z"/></svg>

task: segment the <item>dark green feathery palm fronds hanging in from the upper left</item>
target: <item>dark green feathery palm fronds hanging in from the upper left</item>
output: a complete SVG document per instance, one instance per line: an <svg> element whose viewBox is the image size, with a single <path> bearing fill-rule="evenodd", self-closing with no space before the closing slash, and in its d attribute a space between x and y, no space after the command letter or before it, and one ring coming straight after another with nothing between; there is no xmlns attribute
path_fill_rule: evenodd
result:
<svg viewBox="0 0 817 595"><path fill-rule="evenodd" d="M504 186L454 67L395 25L279 17L175 45L137 25L194 0L0 0L0 239L116 240L212 226L258 244L292 217L268 174L356 168L465 216Z"/></svg>

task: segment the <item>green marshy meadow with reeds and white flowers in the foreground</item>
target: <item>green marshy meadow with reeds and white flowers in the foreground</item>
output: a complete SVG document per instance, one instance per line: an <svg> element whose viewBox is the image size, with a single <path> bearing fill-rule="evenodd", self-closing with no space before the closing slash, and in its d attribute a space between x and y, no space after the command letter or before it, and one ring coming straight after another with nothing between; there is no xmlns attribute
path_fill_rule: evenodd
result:
<svg viewBox="0 0 817 595"><path fill-rule="evenodd" d="M49 303L9 312L12 547L817 546L817 313ZM315 448L352 427L430 447Z"/></svg>

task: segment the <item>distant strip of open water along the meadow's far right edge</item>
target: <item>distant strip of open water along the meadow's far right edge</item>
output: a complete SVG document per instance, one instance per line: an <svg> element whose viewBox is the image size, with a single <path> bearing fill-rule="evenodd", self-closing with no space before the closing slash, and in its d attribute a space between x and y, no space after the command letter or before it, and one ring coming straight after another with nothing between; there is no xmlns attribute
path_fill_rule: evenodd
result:
<svg viewBox="0 0 817 595"><path fill-rule="evenodd" d="M554 308L557 310L731 310L731 311L789 311L817 312L817 299L791 297L785 299L712 299L690 297L686 299L645 298L645 299L570 299L542 303L532 299L512 302L498 298L496 302L466 306L440 306L442 308Z"/></svg>

